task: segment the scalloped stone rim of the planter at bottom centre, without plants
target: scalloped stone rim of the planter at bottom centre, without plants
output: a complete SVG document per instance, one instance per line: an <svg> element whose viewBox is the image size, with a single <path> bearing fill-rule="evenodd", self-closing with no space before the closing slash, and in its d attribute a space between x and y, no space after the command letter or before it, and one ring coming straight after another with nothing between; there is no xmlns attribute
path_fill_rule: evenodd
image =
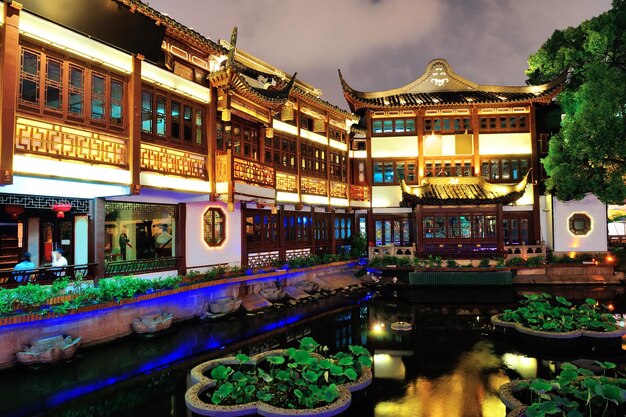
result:
<svg viewBox="0 0 626 417"><path fill-rule="evenodd" d="M246 364L256 365L263 361L267 356L286 356L284 350L273 350L263 352L251 358ZM313 354L316 355L316 354ZM321 356L316 355L319 358ZM246 365L244 364L244 365ZM354 382L341 384L337 386L339 397L332 403L321 407L310 409L288 409L276 407L263 401L253 401L246 404L236 405L215 405L202 401L200 397L208 390L213 389L217 382L209 376L213 368L219 366L240 365L240 362L233 358L227 357L204 362L194 367L190 372L192 386L185 393L185 403L187 408L196 414L213 417L238 417L244 415L259 414L265 417L280 416L315 416L315 417L331 417L348 409L352 401L351 392L362 390L372 382L372 371L370 368L363 368L361 376Z"/></svg>

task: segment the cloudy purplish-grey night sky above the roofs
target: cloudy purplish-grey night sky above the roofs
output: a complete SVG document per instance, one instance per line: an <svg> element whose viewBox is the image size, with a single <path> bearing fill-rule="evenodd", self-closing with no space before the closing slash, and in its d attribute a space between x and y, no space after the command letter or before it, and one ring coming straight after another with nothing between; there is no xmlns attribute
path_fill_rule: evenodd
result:
<svg viewBox="0 0 626 417"><path fill-rule="evenodd" d="M555 29L610 0L144 0L214 41L237 46L321 88L347 108L337 77L361 91L401 87L435 58L472 81L524 85L528 56Z"/></svg>

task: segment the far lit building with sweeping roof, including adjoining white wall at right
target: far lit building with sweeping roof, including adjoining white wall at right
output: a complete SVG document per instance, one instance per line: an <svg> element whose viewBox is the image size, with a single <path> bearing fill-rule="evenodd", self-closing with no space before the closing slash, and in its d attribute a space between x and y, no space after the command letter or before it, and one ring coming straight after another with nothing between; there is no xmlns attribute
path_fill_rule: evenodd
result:
<svg viewBox="0 0 626 417"><path fill-rule="evenodd" d="M393 90L361 92L339 77L365 130L353 143L352 180L372 196L371 242L415 245L420 256L543 253L545 243L606 250L606 208L595 197L575 207L543 195L539 159L558 129L553 100L565 75L539 86L480 85L436 59Z"/></svg>

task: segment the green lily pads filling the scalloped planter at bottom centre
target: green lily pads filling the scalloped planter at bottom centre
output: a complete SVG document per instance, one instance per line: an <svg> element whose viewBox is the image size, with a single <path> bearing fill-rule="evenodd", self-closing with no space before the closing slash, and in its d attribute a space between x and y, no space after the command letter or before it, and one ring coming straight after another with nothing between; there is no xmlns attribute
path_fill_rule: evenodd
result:
<svg viewBox="0 0 626 417"><path fill-rule="evenodd" d="M236 405L262 401L287 409L310 409L330 404L340 394L339 385L356 381L364 368L372 365L370 353L362 346L349 346L348 352L333 356L326 346L310 337L300 347L289 348L284 355L265 356L259 362L244 354L235 365L211 369L216 381L207 391L206 400L215 405Z"/></svg>

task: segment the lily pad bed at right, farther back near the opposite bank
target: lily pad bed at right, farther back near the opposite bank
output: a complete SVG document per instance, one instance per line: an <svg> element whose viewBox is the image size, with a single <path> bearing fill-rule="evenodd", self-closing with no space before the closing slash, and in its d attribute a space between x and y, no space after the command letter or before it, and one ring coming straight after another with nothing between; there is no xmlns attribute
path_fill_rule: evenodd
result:
<svg viewBox="0 0 626 417"><path fill-rule="evenodd" d="M564 297L550 294L524 295L520 307L507 309L500 320L544 332L572 332L590 330L612 332L618 329L615 317L593 298L587 298L581 305L574 305Z"/></svg>

